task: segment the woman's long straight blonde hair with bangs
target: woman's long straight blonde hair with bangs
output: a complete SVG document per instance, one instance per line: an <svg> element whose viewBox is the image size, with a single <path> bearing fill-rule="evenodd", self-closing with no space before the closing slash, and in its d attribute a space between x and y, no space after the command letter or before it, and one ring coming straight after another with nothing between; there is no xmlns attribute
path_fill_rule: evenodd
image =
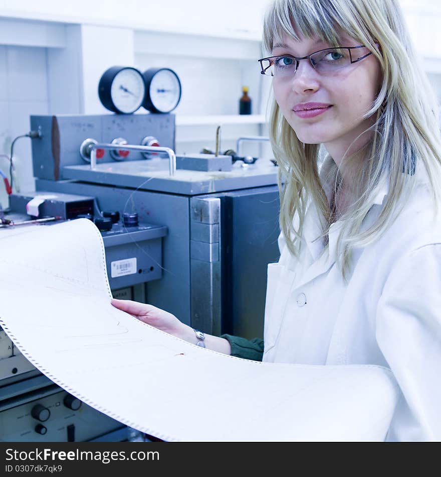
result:
<svg viewBox="0 0 441 477"><path fill-rule="evenodd" d="M275 0L265 17L264 45L270 52L282 35L299 40L296 32L300 32L304 37L317 37L338 46L341 31L368 47L382 72L380 91L360 118L376 114L375 124L364 131L370 132L372 140L342 162L362 159L356 176L351 177L355 203L342 216L337 240L337 264L347 279L353 249L377 240L396 218L402 199L411 194L417 162L427 173L436 213L441 199L441 138L437 101L413 51L396 0ZM280 166L280 226L289 250L298 257L308 201L317 206L325 243L332 222L331 206L319 177L320 145L302 143L275 100L270 138ZM337 166L331 170L332 175L337 193ZM383 181L388 181L389 193L381 213L372 226L361 231ZM297 227L293 222L296 213Z"/></svg>

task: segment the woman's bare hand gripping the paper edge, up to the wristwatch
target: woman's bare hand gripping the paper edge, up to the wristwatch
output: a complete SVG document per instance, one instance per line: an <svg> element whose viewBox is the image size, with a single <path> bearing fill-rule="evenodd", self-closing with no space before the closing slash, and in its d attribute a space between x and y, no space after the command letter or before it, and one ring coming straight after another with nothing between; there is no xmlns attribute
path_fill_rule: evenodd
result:
<svg viewBox="0 0 441 477"><path fill-rule="evenodd" d="M176 316L167 311L156 308L153 305L138 303L131 300L116 300L112 298L111 304L119 310L129 313L134 318L143 321L155 328L172 334L177 338L195 343L195 335L192 328L179 321Z"/></svg>

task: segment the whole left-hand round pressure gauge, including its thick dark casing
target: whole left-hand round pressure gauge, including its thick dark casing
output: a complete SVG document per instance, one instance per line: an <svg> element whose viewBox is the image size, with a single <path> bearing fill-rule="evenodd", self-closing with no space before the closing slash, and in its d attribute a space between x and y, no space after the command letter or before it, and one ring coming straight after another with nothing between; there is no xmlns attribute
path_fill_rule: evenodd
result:
<svg viewBox="0 0 441 477"><path fill-rule="evenodd" d="M98 95L103 106L118 114L131 114L142 106L145 84L142 73L129 66L112 66L101 76Z"/></svg>

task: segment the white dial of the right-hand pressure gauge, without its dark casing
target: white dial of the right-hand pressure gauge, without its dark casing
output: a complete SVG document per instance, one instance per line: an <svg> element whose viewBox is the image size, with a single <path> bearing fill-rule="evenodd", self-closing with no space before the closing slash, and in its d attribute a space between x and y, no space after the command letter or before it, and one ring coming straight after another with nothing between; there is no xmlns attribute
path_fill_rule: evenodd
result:
<svg viewBox="0 0 441 477"><path fill-rule="evenodd" d="M170 112L179 103L181 85L176 73L169 69L159 70L151 79L150 101L159 112Z"/></svg>

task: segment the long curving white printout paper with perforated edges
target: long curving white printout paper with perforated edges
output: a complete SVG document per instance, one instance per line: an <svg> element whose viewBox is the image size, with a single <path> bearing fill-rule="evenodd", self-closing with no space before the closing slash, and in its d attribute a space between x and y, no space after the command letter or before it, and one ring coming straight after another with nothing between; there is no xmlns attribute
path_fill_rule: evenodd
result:
<svg viewBox="0 0 441 477"><path fill-rule="evenodd" d="M166 441L387 433L399 390L385 368L243 360L114 308L101 234L87 219L0 230L0 250L0 325L52 381L128 426Z"/></svg>

